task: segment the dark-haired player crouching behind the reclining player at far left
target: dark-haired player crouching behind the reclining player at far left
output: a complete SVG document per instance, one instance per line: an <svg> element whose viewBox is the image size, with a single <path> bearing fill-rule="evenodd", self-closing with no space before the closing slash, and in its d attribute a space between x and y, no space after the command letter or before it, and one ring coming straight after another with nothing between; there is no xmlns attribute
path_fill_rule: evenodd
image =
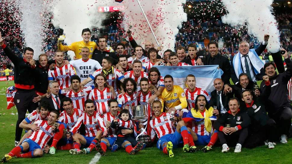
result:
<svg viewBox="0 0 292 164"><path fill-rule="evenodd" d="M39 131L40 127L36 126L34 122L36 120L48 120L49 104L42 102L39 104L39 108L31 112L20 124L19 127L26 129L26 133L23 135L17 146L20 146L25 138L30 136L33 131Z"/></svg>

